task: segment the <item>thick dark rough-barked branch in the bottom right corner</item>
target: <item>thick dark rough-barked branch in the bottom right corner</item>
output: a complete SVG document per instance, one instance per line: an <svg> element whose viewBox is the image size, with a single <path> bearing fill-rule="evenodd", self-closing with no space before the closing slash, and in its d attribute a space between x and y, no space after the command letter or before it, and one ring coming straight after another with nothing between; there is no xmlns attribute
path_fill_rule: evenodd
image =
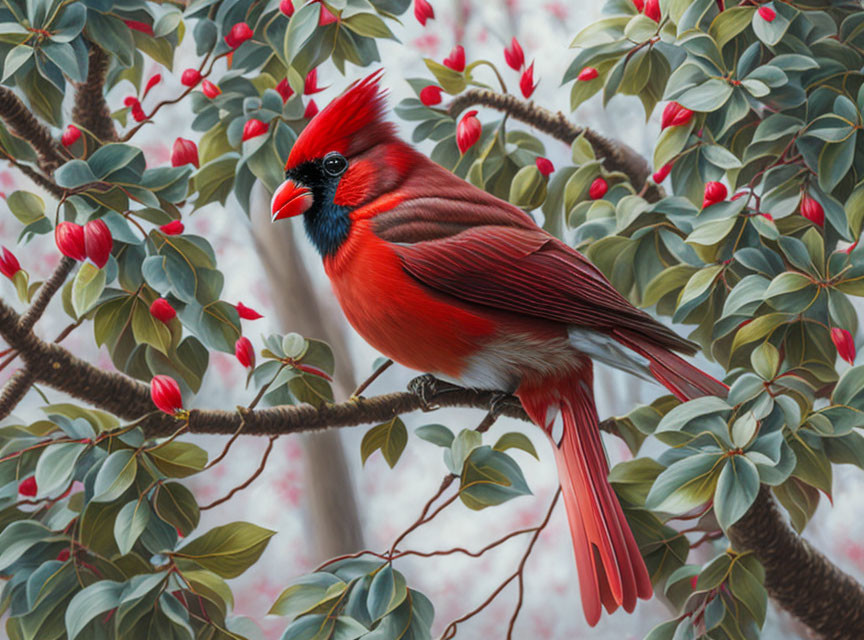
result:
<svg viewBox="0 0 864 640"><path fill-rule="evenodd" d="M768 487L760 489L730 538L762 562L765 587L777 604L824 638L861 638L864 588L789 528Z"/></svg>

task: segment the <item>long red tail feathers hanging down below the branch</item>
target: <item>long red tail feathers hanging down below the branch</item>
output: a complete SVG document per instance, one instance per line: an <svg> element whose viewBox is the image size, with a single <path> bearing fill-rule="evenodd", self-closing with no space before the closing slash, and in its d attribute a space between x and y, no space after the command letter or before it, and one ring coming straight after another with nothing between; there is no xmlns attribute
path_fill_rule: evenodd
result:
<svg viewBox="0 0 864 640"><path fill-rule="evenodd" d="M624 512L609 484L609 466L600 440L587 361L575 380L554 396L549 389L520 393L525 410L549 434L567 520L573 536L579 591L588 624L623 606L633 611L637 598L650 598L651 580ZM547 422L549 408L560 406L560 423Z"/></svg>

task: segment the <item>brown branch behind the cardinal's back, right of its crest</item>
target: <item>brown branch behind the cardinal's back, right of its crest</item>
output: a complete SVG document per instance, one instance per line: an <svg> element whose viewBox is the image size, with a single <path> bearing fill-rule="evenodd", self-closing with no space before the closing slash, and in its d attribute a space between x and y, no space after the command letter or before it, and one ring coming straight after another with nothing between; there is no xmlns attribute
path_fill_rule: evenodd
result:
<svg viewBox="0 0 864 640"><path fill-rule="evenodd" d="M580 135L584 135L597 155L603 159L606 169L626 174L637 191L644 188L643 196L648 202L657 202L666 195L661 187L648 182L651 167L634 149L623 142L610 140L588 127L577 127L560 111L552 113L533 102L524 102L509 93L495 93L488 89L471 89L456 96L447 110L455 118L468 107L475 105L503 111L568 145L573 144Z"/></svg>

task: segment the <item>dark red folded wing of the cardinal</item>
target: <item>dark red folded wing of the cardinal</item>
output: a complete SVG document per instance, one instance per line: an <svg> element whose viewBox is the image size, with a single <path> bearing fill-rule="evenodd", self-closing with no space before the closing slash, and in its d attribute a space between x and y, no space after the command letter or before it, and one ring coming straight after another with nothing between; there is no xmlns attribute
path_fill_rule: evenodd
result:
<svg viewBox="0 0 864 640"><path fill-rule="evenodd" d="M695 351L631 305L584 256L537 227L482 225L443 235L395 246L405 270L426 286L475 304L612 334L630 330L657 346Z"/></svg>

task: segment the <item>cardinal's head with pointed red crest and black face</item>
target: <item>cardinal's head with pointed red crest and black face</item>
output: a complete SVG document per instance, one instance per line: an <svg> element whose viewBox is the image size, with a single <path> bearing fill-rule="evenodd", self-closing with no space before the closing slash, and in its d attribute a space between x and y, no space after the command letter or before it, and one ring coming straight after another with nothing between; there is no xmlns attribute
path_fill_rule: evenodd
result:
<svg viewBox="0 0 864 640"><path fill-rule="evenodd" d="M415 152L385 120L380 79L379 70L355 82L309 122L273 194L273 221L302 215L323 256L347 238L352 212L396 188L412 165Z"/></svg>

